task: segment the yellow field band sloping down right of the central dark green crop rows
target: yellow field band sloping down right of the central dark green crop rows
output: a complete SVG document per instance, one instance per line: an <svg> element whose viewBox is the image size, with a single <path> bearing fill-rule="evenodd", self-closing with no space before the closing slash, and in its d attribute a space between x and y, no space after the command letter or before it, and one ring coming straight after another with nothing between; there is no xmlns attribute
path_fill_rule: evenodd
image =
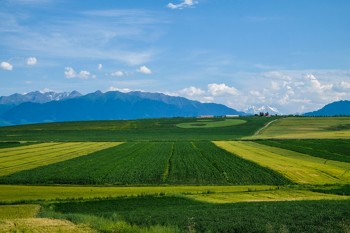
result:
<svg viewBox="0 0 350 233"><path fill-rule="evenodd" d="M321 159L249 141L220 141L217 146L283 174L295 183L350 183L350 164Z"/></svg>

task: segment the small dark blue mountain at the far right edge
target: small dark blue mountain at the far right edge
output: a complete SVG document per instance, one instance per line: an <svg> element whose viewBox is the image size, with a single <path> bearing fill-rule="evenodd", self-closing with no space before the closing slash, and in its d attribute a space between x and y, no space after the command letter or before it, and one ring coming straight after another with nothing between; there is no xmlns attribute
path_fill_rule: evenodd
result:
<svg viewBox="0 0 350 233"><path fill-rule="evenodd" d="M330 104L327 104L323 108L310 112L304 113L302 116L339 116L345 115L350 116L350 101L340 100Z"/></svg>

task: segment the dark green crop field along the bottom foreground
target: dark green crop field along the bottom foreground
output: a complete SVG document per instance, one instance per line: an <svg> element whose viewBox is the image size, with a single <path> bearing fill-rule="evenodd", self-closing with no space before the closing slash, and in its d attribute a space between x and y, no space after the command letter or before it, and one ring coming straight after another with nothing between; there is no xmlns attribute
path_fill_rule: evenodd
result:
<svg viewBox="0 0 350 233"><path fill-rule="evenodd" d="M344 232L350 200L212 203L183 196L53 203L68 219L76 215L126 221L139 227L173 226L180 232ZM50 208L50 205L48 207ZM108 231L105 231L108 232ZM112 232L112 231L109 231Z"/></svg>

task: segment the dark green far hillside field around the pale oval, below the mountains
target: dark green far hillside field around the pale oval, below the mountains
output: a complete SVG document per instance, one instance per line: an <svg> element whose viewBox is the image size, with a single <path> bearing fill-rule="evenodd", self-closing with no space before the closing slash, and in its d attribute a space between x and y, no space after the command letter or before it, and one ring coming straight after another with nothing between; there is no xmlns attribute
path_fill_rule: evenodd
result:
<svg viewBox="0 0 350 233"><path fill-rule="evenodd" d="M267 119L270 118L270 119ZM253 135L271 117L239 117L245 124L215 128L178 128L197 118L73 121L0 127L0 141L197 141L232 140ZM221 119L221 118L220 118ZM201 122L203 123L203 122Z"/></svg>

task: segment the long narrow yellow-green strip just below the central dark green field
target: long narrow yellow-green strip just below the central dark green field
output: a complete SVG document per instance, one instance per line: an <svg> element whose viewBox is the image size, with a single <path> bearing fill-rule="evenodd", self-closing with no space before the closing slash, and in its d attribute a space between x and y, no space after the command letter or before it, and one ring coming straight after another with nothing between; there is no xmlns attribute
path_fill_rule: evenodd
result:
<svg viewBox="0 0 350 233"><path fill-rule="evenodd" d="M66 200L137 197L147 194L203 194L247 192L248 190L270 190L277 186L237 185L237 186L24 186L0 185L0 201L4 204L20 200Z"/></svg>

